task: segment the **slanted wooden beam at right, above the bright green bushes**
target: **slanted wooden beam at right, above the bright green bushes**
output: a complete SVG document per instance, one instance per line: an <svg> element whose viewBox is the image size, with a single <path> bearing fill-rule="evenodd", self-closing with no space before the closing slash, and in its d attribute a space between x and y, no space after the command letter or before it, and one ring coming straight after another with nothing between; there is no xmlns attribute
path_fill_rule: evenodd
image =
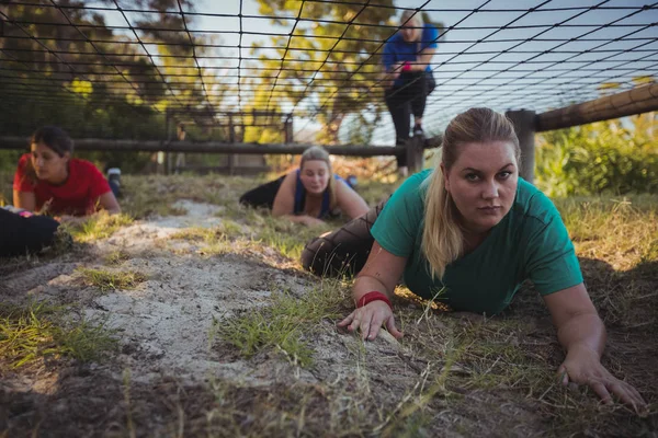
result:
<svg viewBox="0 0 658 438"><path fill-rule="evenodd" d="M658 110L658 83L537 114L535 131L568 128Z"/></svg>

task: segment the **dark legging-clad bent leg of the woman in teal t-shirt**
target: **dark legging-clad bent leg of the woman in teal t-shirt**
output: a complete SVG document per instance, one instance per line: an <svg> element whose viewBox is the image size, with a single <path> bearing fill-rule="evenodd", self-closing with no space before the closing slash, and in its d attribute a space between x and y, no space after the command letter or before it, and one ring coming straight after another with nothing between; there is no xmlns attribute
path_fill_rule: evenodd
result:
<svg viewBox="0 0 658 438"><path fill-rule="evenodd" d="M371 228L388 199L338 230L313 239L302 252L305 269L322 277L354 276L365 265L375 239Z"/></svg>

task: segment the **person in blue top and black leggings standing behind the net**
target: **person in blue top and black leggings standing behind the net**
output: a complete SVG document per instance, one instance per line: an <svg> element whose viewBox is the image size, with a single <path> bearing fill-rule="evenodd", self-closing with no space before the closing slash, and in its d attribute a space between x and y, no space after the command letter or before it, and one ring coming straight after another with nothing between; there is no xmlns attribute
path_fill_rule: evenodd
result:
<svg viewBox="0 0 658 438"><path fill-rule="evenodd" d="M411 114L413 136L424 136L422 116L428 95L435 87L430 61L438 38L435 26L423 24L417 11L406 10L400 19L400 30L384 46L384 99L395 126L396 146L405 146L409 140ZM400 175L406 177L407 157L397 157L397 164Z"/></svg>

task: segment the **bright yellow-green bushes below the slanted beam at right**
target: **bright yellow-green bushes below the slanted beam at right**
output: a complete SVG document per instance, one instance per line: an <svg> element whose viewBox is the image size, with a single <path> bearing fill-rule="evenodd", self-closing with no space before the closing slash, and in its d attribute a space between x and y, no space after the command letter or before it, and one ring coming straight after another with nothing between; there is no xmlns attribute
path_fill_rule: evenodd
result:
<svg viewBox="0 0 658 438"><path fill-rule="evenodd" d="M656 113L544 132L536 184L549 196L658 193Z"/></svg>

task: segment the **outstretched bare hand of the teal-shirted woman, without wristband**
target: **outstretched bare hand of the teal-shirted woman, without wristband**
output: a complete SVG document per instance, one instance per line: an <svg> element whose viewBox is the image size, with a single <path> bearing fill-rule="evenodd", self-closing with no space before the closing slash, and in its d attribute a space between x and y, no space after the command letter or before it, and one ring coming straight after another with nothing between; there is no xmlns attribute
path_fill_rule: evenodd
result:
<svg viewBox="0 0 658 438"><path fill-rule="evenodd" d="M601 397L603 403L612 403L612 394L615 394L621 401L633 406L637 413L642 413L647 406L639 392L631 384L612 376L601 365L599 354L588 347L571 348L558 372L563 384L568 385L569 382L587 384Z"/></svg>

